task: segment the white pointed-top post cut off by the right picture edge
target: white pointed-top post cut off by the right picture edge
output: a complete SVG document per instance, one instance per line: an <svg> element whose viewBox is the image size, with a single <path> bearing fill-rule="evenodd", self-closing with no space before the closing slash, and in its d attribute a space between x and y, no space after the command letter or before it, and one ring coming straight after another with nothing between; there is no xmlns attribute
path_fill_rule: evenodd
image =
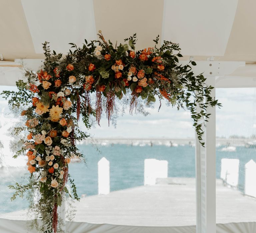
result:
<svg viewBox="0 0 256 233"><path fill-rule="evenodd" d="M245 164L244 194L256 197L256 163L252 159Z"/></svg>

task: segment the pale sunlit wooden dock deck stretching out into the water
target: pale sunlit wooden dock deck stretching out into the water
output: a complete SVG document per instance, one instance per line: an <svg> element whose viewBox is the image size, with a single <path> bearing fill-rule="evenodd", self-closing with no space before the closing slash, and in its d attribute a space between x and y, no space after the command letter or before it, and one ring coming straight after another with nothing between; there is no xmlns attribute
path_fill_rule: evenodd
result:
<svg viewBox="0 0 256 233"><path fill-rule="evenodd" d="M168 184L169 183L169 184ZM195 225L195 179L174 178L152 186L140 186L108 195L81 198L75 203L75 221L141 226ZM216 181L217 223L256 222L256 199ZM26 219L26 211L1 218Z"/></svg>

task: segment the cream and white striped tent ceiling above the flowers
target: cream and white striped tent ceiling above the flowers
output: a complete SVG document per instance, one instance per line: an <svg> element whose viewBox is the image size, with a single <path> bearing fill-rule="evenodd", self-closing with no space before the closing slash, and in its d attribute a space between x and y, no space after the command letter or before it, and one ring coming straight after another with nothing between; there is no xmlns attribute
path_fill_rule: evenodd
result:
<svg viewBox="0 0 256 233"><path fill-rule="evenodd" d="M43 58L41 43L67 52L70 42L104 36L118 43L137 32L137 49L152 39L181 44L184 59L256 63L254 0L2 0L0 54L4 60Z"/></svg>

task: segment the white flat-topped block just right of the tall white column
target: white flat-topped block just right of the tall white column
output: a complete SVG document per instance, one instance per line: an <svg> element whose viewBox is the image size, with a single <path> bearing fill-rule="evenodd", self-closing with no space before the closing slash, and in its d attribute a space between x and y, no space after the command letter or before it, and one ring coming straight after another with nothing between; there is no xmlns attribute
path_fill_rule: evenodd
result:
<svg viewBox="0 0 256 233"><path fill-rule="evenodd" d="M239 159L221 159L220 178L224 181L225 184L232 187L238 187Z"/></svg>

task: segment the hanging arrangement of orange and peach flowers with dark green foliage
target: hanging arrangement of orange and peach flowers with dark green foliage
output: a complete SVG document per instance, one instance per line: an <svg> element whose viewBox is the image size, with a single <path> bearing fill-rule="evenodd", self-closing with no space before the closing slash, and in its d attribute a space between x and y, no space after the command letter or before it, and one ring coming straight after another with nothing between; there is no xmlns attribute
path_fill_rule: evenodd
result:
<svg viewBox="0 0 256 233"><path fill-rule="evenodd" d="M153 40L155 47L135 51L136 34L124 40L128 44L120 45L107 42L101 31L98 36L99 41L85 40L81 48L70 43L74 50L65 56L55 51L51 54L45 42L45 60L38 73L26 71L26 81L16 83L18 92L2 93L4 98L10 98L11 108L24 118L24 122L14 128L14 134L28 131L26 138L21 137L22 147L14 157L27 155L30 181L27 185L11 185L15 190L12 199L23 197L27 190L40 193L31 208L43 222L41 228L38 226L41 231L44 227L45 232L60 230L62 222L57 208L64 195L79 200L68 164L71 157L82 156L76 140L87 138L78 127L80 116L90 128L89 117L95 117L100 124L103 112L110 122L117 108L116 101L128 106L132 114L154 103L158 97L160 103L165 99L178 110L190 111L203 145L199 120L209 117L207 107L221 106L210 96L213 87L204 85L206 78L193 73L191 65L195 66L195 62L179 65L178 58L182 55L178 44L164 41L157 47L157 36ZM67 188L68 181L72 194Z"/></svg>

